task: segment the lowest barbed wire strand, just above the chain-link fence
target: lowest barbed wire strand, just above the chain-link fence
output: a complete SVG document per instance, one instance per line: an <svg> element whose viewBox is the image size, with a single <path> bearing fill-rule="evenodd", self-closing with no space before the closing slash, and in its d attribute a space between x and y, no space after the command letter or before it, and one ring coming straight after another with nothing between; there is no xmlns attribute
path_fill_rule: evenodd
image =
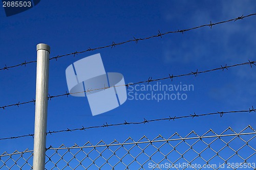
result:
<svg viewBox="0 0 256 170"><path fill-rule="evenodd" d="M82 128L76 128L76 129L65 129L65 130L59 130L59 131L49 131L46 134L55 134L55 133L60 133L60 132L73 132L73 131L81 131L81 130L87 130L87 129L95 129L95 128L104 128L104 127L113 127L113 126L122 126L122 125L139 125L139 124L146 124L146 123L151 123L151 122L159 122L159 121L163 121L163 120L175 120L175 119L180 119L180 118L188 118L188 117L201 117L201 116L209 116L209 115L216 115L219 114L220 117L222 117L224 114L228 114L228 113L251 113L251 112L255 112L256 109L253 108L249 108L248 110L239 110L239 111L226 111L226 112L214 112L214 113L204 113L204 114L196 114L195 112L193 114L189 114L186 116L174 116L174 117L165 117L165 118L158 118L158 119L151 119L151 120L147 120L146 118L143 119L143 121L141 122L126 122L126 120L124 120L124 123L119 123L119 124L108 124L105 122L105 124L103 125L99 125L99 126L91 126L91 127L83 127ZM34 134L28 134L28 135L21 135L21 136L13 136L13 137L6 137L6 138L0 138L0 140L7 140L7 139L17 139L17 138L22 138L22 137L28 137L28 136L32 136L34 138Z"/></svg>

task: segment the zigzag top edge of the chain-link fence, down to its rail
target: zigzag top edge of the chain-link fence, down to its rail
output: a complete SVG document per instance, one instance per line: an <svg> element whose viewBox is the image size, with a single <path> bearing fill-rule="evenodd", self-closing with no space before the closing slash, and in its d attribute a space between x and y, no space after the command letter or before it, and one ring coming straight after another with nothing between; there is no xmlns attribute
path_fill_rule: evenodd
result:
<svg viewBox="0 0 256 170"><path fill-rule="evenodd" d="M243 133L246 129L251 129L253 132L247 132ZM224 134L228 130L231 130L233 134ZM208 135L208 133L214 133L214 135ZM188 137L190 134L195 134L196 137ZM154 142L169 142L169 141L179 141L179 140L190 140L190 139L203 139L203 138L217 138L217 137L227 137L227 136L242 136L242 135L256 135L256 131L248 125L246 128L244 128L241 132L236 133L231 127L228 127L226 130L224 130L221 134L216 134L212 129L209 129L207 132L205 132L203 135L199 136L195 131L191 131L188 133L185 137L180 136L177 132L174 133L172 136L170 136L168 139L165 139L163 136L158 135L153 140L148 139L146 136L143 136L138 141L133 140L131 137L127 138L124 142L118 142L116 139L112 141L110 144L106 144L104 141L99 141L96 145L93 145L90 141L86 142L83 146L79 147L76 143L72 147L66 147L64 144L61 144L58 148L53 148L51 145L49 148L46 148L46 150L70 150L70 149L84 149L84 148L99 148L99 147L113 147L113 146L123 146L123 145L129 145L129 144L141 144L141 143L154 143ZM174 136L177 136L176 138L173 138ZM160 138L160 139L159 139ZM146 141L141 141L145 139ZM131 140L132 142L127 142ZM102 144L103 143L103 144ZM7 152L4 152L0 157L5 156L12 156L17 154L25 154L25 153L33 153L33 150L26 149L23 152L18 152L17 150L14 151L11 154L8 154Z"/></svg>

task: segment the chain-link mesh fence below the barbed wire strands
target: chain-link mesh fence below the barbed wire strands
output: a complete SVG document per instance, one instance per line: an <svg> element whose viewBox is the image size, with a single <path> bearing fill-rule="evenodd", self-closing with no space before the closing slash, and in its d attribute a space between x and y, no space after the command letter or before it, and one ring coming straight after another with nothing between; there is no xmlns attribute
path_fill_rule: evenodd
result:
<svg viewBox="0 0 256 170"><path fill-rule="evenodd" d="M158 135L138 141L107 144L100 141L72 147L60 145L46 151L46 169L256 169L256 131L248 126L237 133L227 128L220 134L191 131L182 137ZM0 155L0 169L32 169L33 151Z"/></svg>

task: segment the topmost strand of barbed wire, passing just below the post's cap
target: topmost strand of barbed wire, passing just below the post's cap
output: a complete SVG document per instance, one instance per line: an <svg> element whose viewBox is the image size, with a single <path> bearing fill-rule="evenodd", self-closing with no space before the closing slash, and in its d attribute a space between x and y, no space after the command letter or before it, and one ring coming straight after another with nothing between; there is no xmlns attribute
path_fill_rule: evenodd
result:
<svg viewBox="0 0 256 170"><path fill-rule="evenodd" d="M112 41L112 44L110 44L110 45L99 46L99 47L95 47L95 48L90 48L89 47L87 50L80 51L80 52L76 51L76 52L65 54L65 55L58 55L58 56L50 58L50 60L55 59L57 61L58 58L65 57L65 56L70 56L70 55L73 55L75 57L75 55L77 55L77 54L86 53L86 52L89 52L89 51L95 51L95 50L99 50L99 49L102 49L102 48L108 48L108 47L113 48L116 45L121 45L121 44L129 43L129 42L136 42L136 43L138 43L138 41L141 41L141 40L147 40L147 39L152 39L152 38L156 38L156 37L161 37L162 38L162 36L167 35L167 34L173 34L173 33L182 33L183 34L184 32L195 30L195 29L199 29L199 28L202 28L202 27L210 27L210 28L212 28L212 26L215 26L215 25L219 25L219 24L222 24L222 23L227 23L227 22L230 22L230 21L237 21L237 20L244 19L246 17L250 17L250 16L253 16L253 15L256 15L256 13L249 14L249 15L246 15L246 16L242 15L242 16L239 16L237 18L233 18L233 19L229 19L229 20L225 20L225 21L220 21L220 22L216 22L216 23L211 23L211 21L210 21L210 23L206 24L206 25L202 25L202 26L198 26L198 27L194 27L194 28L190 28L190 29L178 30L178 31L169 31L169 32L161 33L158 30L158 34L152 35L150 37L145 37L145 38L135 38L135 37L133 37L133 39L131 39L131 40L127 40L127 41L123 41L123 42L119 42L119 43L115 43L114 41ZM36 61L26 62L26 60L25 60L25 62L17 64L17 65L13 65L13 66L7 66L5 64L5 67L0 68L0 70L8 70L9 68L23 66L23 65L26 66L27 64L30 64L30 63L36 63Z"/></svg>

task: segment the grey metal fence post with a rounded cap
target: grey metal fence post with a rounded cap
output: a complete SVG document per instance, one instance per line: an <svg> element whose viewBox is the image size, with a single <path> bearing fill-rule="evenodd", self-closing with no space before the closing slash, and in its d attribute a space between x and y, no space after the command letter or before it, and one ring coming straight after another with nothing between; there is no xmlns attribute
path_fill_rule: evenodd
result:
<svg viewBox="0 0 256 170"><path fill-rule="evenodd" d="M37 44L33 170L45 169L50 46Z"/></svg>

